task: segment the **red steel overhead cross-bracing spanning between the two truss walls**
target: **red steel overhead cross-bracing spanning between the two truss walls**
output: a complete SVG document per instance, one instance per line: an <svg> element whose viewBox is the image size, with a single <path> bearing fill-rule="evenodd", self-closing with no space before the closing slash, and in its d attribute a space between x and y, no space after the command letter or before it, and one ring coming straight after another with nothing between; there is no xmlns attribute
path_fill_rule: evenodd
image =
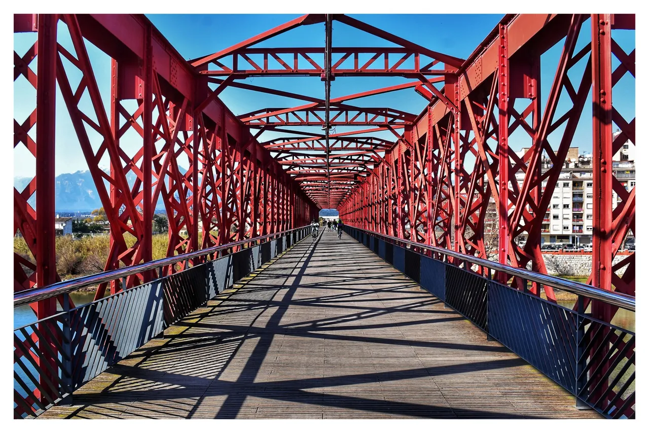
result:
<svg viewBox="0 0 649 433"><path fill-rule="evenodd" d="M389 48L331 47L330 31L331 22L334 20L399 46ZM325 32L328 36L325 38L326 46L324 47L252 47L256 43L295 29L300 25L314 23L325 23ZM389 107L353 106L349 105L349 101L410 88L424 97L427 103L432 103L437 99L448 102L445 91L439 90L434 84L443 82L449 75L454 75L462 62L462 59L437 53L356 19L336 14L305 15L228 49L191 60L191 64L197 68L199 74L208 77L208 82L219 86L228 85L308 101L306 105L292 108L262 108L242 114L239 119L251 127L258 128L258 134L272 130L302 135L301 137L293 136L266 142L265 147L273 151L273 156L276 158L283 159L287 151L297 149L324 151L326 158L323 167L319 166L321 161L314 163L312 160L304 159L304 164L298 164L298 158L294 158L295 164L291 164L288 173L299 180L300 186L319 206L328 208L336 207L350 189L361 179L367 177L369 170L373 168L373 164L369 164L371 163L369 160L367 164L355 161L353 164L334 165L330 161L330 155L335 159L332 151L336 149L372 149L372 158L380 161L387 147L386 140L376 138L354 140L351 136L390 130L399 137L397 129L412 125L419 118ZM326 97L326 100L236 81L254 76L291 75L319 76L325 82L325 88L330 88L330 82L335 80L336 76L398 76L415 80L344 97L333 99ZM225 77L225 79L217 77ZM230 81L227 82L227 80ZM329 130L336 126L361 125L375 126L376 128L337 134L332 134ZM286 127L294 126L318 126L323 127L325 132L311 136L300 130L286 129ZM343 137L350 139L341 140ZM331 142L332 140L333 142ZM314 152L313 155L315 154ZM317 167L313 167L314 165Z"/></svg>

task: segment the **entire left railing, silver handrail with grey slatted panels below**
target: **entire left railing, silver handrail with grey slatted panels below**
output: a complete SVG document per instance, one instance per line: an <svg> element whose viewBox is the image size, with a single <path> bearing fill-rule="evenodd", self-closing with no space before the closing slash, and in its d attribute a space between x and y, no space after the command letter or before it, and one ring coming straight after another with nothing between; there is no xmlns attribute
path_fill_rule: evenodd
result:
<svg viewBox="0 0 649 433"><path fill-rule="evenodd" d="M16 293L15 307L57 297L62 312L14 330L14 418L71 403L73 391L307 236L308 227ZM162 273L165 266L244 246L213 260L197 260L177 273ZM70 308L71 291L151 269L160 269L158 278Z"/></svg>

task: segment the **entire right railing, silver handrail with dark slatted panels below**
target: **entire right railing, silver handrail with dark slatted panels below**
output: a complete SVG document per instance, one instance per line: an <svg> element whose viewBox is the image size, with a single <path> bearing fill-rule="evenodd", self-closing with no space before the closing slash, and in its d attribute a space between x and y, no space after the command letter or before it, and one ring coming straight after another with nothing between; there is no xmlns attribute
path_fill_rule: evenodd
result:
<svg viewBox="0 0 649 433"><path fill-rule="evenodd" d="M615 307L635 312L635 297L346 227L356 240L484 330L487 338L500 341L570 391L578 408L593 408L609 418L635 418L635 332L587 313L589 299L598 301L598 308L601 303L611 306L612 312ZM495 278L493 271L499 273ZM575 293L576 306L566 308L508 286L502 273L522 278L522 288L532 280Z"/></svg>

